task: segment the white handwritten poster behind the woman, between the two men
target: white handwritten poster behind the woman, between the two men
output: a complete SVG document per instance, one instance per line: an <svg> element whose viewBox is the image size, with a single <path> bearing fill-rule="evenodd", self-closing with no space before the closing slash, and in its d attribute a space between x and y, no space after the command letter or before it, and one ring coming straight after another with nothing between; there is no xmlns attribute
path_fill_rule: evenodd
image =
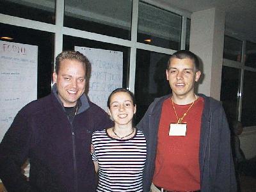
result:
<svg viewBox="0 0 256 192"><path fill-rule="evenodd" d="M123 52L88 47L75 47L92 64L88 97L92 102L107 111L109 94L122 88Z"/></svg>

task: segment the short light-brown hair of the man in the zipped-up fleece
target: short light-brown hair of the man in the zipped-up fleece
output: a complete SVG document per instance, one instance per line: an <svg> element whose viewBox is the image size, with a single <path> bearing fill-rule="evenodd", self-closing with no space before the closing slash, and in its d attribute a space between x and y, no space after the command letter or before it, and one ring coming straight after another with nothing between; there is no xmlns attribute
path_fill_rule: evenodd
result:
<svg viewBox="0 0 256 192"><path fill-rule="evenodd" d="M79 62L83 63L85 71L87 70L87 67L89 65L89 60L86 58L86 56L81 54L81 52L73 51L73 50L62 51L56 57L56 61L55 61L55 72L56 72L56 74L58 74L58 72L60 70L60 63L63 60L76 60L76 61L79 61Z"/></svg>

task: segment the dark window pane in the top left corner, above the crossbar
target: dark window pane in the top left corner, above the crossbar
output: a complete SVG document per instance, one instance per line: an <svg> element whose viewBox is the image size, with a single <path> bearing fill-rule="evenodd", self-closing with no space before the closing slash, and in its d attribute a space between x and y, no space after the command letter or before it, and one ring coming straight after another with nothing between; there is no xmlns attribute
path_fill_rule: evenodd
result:
<svg viewBox="0 0 256 192"><path fill-rule="evenodd" d="M47 3L44 0L0 0L0 13L54 24L55 0L47 1Z"/></svg>

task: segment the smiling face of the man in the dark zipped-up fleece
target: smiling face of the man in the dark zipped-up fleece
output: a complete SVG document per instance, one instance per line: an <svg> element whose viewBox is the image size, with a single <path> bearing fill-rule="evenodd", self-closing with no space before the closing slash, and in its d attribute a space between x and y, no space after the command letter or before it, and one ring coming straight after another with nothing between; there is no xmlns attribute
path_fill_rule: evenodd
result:
<svg viewBox="0 0 256 192"><path fill-rule="evenodd" d="M85 89L85 68L77 60L63 60L58 74L54 72L53 81L56 83L58 96L65 107L76 106L77 100Z"/></svg>

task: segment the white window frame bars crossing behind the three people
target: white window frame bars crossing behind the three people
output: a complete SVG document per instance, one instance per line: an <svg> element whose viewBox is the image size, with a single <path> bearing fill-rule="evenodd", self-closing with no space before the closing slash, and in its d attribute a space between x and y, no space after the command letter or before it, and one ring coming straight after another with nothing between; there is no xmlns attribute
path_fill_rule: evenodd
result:
<svg viewBox="0 0 256 192"><path fill-rule="evenodd" d="M150 0L141 0L141 2L151 4L163 10L168 10L170 12L176 13L182 16L182 33L181 33L181 45L180 49L185 49L186 44L186 20L191 17L191 13L176 10L170 6L164 6L163 4L156 3ZM137 42L137 31L138 31L138 6L139 0L132 1L132 23L131 23L131 40L124 40L121 38L116 38L113 36L100 35L97 33L91 33L88 31L81 31L79 29L67 28L63 25L64 20L64 7L65 3L62 0L56 0L56 20L55 24L48 24L45 22L39 22L36 20L23 19L19 17L13 17L10 15L4 15L0 13L0 22L4 24L11 24L13 26L21 26L25 28L36 29L40 31L47 31L54 33L54 58L62 51L63 47L63 35L76 36L79 38L86 38L89 40L96 40L99 42L122 45L130 48L130 58L129 58L129 82L127 88L134 92L134 79L135 79L135 69L136 69L136 50L144 49L146 51L159 52L164 54L173 54L177 50L167 49L163 47L157 47L155 45L148 45ZM55 63L55 62L54 62Z"/></svg>

